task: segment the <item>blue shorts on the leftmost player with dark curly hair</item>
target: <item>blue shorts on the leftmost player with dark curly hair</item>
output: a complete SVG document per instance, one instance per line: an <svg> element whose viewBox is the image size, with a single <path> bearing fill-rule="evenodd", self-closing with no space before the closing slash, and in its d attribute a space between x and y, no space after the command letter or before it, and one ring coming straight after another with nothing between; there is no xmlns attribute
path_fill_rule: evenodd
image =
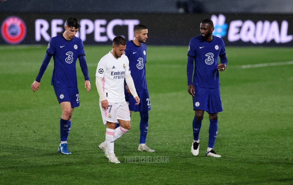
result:
<svg viewBox="0 0 293 185"><path fill-rule="evenodd" d="M69 101L71 103L71 108L79 106L79 92L77 87L53 85L53 89L59 103Z"/></svg>

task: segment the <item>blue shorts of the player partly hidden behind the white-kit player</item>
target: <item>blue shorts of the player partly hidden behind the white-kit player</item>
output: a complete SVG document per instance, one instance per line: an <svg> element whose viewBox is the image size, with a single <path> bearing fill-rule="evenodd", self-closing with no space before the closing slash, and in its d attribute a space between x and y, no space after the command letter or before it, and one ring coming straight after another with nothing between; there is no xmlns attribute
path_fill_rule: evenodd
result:
<svg viewBox="0 0 293 185"><path fill-rule="evenodd" d="M134 112L147 112L151 110L151 101L149 99L149 90L137 91L137 95L140 99L140 103L135 105L136 101L131 94L128 94L126 89L125 92L125 100L129 106L130 111Z"/></svg>

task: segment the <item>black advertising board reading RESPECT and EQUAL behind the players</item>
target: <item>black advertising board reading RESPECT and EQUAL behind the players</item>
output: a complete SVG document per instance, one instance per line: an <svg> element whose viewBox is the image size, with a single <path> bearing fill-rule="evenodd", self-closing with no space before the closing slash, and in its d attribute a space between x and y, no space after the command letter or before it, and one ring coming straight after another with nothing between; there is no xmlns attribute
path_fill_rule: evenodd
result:
<svg viewBox="0 0 293 185"><path fill-rule="evenodd" d="M0 14L0 44L47 44L64 32L71 14ZM229 46L292 46L293 15L290 14L79 14L78 36L85 45L111 45L122 35L134 37L133 27L148 28L148 45L188 45L200 34L200 22L214 22L213 35Z"/></svg>

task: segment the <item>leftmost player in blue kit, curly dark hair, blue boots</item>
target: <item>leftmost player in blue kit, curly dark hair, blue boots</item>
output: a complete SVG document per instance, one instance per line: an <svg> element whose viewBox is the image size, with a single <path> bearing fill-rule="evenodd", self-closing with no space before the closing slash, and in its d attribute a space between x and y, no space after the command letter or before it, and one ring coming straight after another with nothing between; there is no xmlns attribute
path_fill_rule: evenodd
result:
<svg viewBox="0 0 293 185"><path fill-rule="evenodd" d="M51 85L62 108L60 119L60 144L57 152L71 154L67 146L67 138L71 127L71 116L74 107L79 106L79 91L77 89L76 60L79 59L81 71L84 74L84 88L90 91L91 84L86 65L84 45L75 34L80 28L79 20L71 17L67 20L64 33L52 37L36 80L31 85L35 92L40 87L41 78L53 56L54 69Z"/></svg>

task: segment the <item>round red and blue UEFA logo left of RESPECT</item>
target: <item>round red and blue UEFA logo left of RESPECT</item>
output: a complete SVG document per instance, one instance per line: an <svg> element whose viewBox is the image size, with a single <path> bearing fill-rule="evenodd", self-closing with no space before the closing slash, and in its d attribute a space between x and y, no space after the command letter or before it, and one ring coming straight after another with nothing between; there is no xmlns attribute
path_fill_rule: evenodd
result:
<svg viewBox="0 0 293 185"><path fill-rule="evenodd" d="M6 18L1 25L1 36L8 44L18 44L26 36L24 21L16 16Z"/></svg>

